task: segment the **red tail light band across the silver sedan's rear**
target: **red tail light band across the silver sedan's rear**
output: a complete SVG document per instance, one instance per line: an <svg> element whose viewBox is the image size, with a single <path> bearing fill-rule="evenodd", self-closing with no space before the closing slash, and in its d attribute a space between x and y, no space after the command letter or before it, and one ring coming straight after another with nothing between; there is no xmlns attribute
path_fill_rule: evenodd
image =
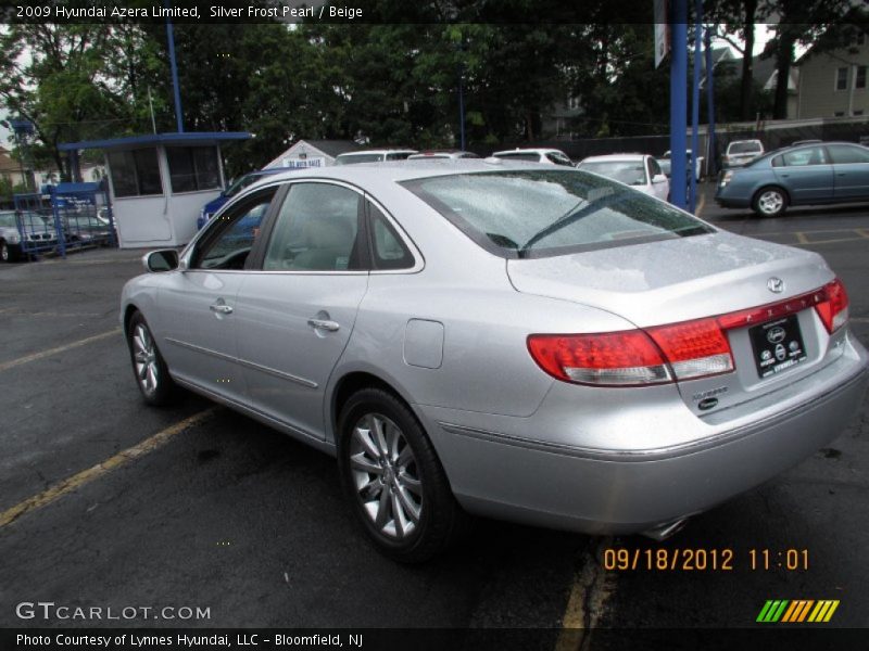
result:
<svg viewBox="0 0 869 651"><path fill-rule="evenodd" d="M717 317L593 334L532 334L528 352L546 373L564 382L638 386L695 380L735 366L727 331L815 307L827 331L847 322L848 297L839 279L781 303Z"/></svg>

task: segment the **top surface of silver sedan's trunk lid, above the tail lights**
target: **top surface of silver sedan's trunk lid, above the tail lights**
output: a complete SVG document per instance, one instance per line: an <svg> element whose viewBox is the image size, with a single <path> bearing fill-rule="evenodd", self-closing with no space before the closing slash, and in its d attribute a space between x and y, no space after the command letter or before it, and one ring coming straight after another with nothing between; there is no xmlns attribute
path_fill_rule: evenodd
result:
<svg viewBox="0 0 869 651"><path fill-rule="evenodd" d="M723 231L511 259L507 275L519 292L605 309L641 328L774 303L833 279L815 253ZM782 293L767 288L772 277L784 281Z"/></svg>

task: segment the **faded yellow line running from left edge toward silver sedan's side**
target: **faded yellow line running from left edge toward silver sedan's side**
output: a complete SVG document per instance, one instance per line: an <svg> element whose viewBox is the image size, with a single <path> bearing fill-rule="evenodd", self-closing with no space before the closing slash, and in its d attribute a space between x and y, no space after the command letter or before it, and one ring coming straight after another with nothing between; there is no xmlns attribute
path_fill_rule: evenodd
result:
<svg viewBox="0 0 869 651"><path fill-rule="evenodd" d="M151 436L150 438L146 438L138 445L129 447L125 450L119 451L114 457L110 457L105 461L101 463L97 463L87 470L83 470L78 474L74 474L71 477L63 480L62 482L54 484L53 486L47 488L42 493L38 495L34 495L25 499L23 502L20 502L0 513L0 528L13 523L15 520L24 515L25 513L29 513L30 511L35 511L36 509L40 509L47 505L50 505L56 499L60 499L67 493L72 493L76 488L80 488L85 484L89 484L93 480L101 477L102 475L121 468L122 465L126 465L130 461L135 461L139 457L147 455L155 450L156 448L164 445L169 438L180 434L188 427L197 425L217 411L217 407L211 407L205 409L204 411L200 411L199 413L194 413L193 416L184 419L180 422L175 423L162 430Z"/></svg>

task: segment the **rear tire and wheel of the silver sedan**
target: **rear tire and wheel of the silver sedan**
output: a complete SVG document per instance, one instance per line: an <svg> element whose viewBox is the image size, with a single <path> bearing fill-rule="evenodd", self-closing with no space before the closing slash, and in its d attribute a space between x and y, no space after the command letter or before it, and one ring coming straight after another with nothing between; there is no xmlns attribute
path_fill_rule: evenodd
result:
<svg viewBox="0 0 869 651"><path fill-rule="evenodd" d="M381 388L361 390L341 409L338 433L341 485L381 553L420 563L459 537L468 516L404 403Z"/></svg>

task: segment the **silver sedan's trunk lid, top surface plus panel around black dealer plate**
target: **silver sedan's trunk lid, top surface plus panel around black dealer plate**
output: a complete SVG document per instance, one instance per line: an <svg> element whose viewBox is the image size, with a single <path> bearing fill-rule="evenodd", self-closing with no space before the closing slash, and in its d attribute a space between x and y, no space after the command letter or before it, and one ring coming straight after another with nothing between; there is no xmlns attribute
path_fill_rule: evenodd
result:
<svg viewBox="0 0 869 651"><path fill-rule="evenodd" d="M780 304L810 294L833 279L817 254L722 231L571 255L511 259L507 275L519 292L605 309L642 329ZM764 322L772 326L764 327ZM774 350L780 343L786 356L793 353L799 361L766 374L757 366L766 346L760 339L773 328L783 329L784 339L769 342L767 347ZM582 323L577 323L576 331L583 332ZM824 357L830 339L809 303L792 305L776 319L755 318L752 324L732 328L726 334L735 370L679 382L685 404L698 414L751 399L789 379L810 373ZM777 339L781 332L774 330L770 336ZM789 350L792 341L798 343Z"/></svg>

